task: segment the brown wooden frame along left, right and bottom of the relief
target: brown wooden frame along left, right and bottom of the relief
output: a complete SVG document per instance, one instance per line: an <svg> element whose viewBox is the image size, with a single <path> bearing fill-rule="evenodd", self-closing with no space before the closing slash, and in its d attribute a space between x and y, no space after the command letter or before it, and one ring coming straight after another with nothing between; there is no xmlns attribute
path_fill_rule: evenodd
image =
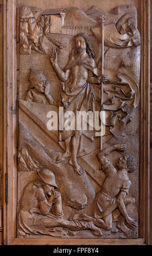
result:
<svg viewBox="0 0 152 256"><path fill-rule="evenodd" d="M150 175L150 0L141 4L141 132L138 239L18 239L17 212L17 58L16 0L3 0L3 195L8 173L8 203L3 196L4 245L148 245Z"/></svg>

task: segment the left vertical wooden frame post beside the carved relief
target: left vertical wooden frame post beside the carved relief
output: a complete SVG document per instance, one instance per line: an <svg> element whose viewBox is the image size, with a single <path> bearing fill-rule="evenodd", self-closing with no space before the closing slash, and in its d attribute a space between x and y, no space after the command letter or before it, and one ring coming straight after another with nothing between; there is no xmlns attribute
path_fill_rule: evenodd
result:
<svg viewBox="0 0 152 256"><path fill-rule="evenodd" d="M3 243L16 236L17 117L16 117L16 1L3 0ZM8 203L5 174L8 174Z"/></svg>

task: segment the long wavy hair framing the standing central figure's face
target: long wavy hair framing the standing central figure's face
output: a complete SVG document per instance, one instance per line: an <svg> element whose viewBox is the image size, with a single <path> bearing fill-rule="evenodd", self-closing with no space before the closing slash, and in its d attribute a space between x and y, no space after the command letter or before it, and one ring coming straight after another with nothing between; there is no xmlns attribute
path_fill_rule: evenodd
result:
<svg viewBox="0 0 152 256"><path fill-rule="evenodd" d="M78 38L78 36L82 36L85 39L85 43L86 43L86 53L88 54L88 56L90 58L95 58L95 54L93 52L92 46L91 46L91 42L90 42L90 38L88 37L88 35L84 34L84 33L79 33L77 35L74 36L74 40L73 40L73 48L71 51L71 54L69 56L69 58L72 58L75 54L77 54L77 49L75 47L75 39Z"/></svg>

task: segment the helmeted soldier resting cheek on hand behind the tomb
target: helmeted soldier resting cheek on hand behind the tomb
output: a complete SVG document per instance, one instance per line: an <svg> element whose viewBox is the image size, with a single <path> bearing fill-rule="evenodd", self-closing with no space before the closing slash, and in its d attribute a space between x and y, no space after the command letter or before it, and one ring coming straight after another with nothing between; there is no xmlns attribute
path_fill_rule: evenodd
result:
<svg viewBox="0 0 152 256"><path fill-rule="evenodd" d="M25 100L39 104L56 105L56 101L49 94L50 84L39 70L30 70L29 82L30 86Z"/></svg>

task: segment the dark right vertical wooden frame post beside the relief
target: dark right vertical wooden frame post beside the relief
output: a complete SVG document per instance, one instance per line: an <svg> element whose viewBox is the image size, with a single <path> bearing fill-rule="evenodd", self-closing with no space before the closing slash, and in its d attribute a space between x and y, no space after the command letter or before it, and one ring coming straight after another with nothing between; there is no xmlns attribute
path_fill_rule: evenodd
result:
<svg viewBox="0 0 152 256"><path fill-rule="evenodd" d="M149 244L150 224L150 0L141 1L140 237ZM145 184L145 185L144 185Z"/></svg>

